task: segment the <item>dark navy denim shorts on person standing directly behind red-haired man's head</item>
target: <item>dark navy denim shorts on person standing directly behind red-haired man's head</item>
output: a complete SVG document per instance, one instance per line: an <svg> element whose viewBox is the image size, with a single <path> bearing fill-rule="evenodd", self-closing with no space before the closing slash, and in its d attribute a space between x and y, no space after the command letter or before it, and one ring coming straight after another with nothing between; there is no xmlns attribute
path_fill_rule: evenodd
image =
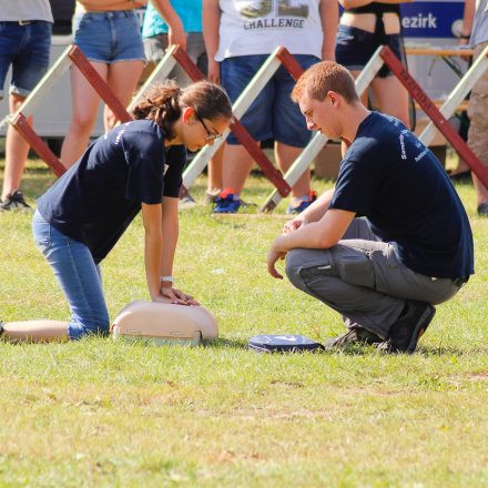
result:
<svg viewBox="0 0 488 488"><path fill-rule="evenodd" d="M400 34L377 34L339 24L336 37L336 61L349 71L362 71L382 44L389 45L399 60L404 59ZM386 78L393 75L393 72L384 64L377 75Z"/></svg>

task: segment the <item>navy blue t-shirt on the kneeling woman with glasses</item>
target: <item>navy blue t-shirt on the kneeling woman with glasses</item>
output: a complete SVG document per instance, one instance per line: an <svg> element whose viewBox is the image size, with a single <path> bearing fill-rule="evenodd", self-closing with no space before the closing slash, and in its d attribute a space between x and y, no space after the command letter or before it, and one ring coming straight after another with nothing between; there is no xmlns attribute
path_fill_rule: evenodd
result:
<svg viewBox="0 0 488 488"><path fill-rule="evenodd" d="M186 149L165 149L157 124L126 122L90 145L38 200L38 210L60 232L84 243L99 263L142 203L179 196L185 162Z"/></svg>

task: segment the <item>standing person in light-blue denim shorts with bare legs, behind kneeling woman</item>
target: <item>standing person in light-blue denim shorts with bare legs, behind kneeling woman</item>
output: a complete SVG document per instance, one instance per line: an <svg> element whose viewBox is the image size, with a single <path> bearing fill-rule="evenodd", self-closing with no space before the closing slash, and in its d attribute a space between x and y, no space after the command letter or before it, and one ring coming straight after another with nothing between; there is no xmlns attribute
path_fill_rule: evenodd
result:
<svg viewBox="0 0 488 488"><path fill-rule="evenodd" d="M135 9L146 0L79 0L73 17L74 44L128 105L141 77L145 58ZM96 121L100 96L77 68L71 69L71 124L61 149L61 162L70 167L87 149ZM105 105L105 131L116 118Z"/></svg>

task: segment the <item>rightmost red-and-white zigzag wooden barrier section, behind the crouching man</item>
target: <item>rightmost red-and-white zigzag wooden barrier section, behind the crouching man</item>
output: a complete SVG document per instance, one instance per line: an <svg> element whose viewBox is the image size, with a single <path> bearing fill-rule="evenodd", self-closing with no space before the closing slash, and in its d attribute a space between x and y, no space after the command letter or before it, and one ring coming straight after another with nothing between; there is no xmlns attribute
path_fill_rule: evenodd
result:
<svg viewBox="0 0 488 488"><path fill-rule="evenodd" d="M458 154L466 160L469 167L480 179L485 186L488 187L488 170L481 165L472 151L468 148L465 141L461 140L459 134L457 134L457 132L451 128L447 120L454 114L462 100L465 100L476 81L481 77L482 73L486 72L486 70L488 70L488 48L485 49L485 51L472 63L472 65L465 73L461 80L459 80L459 82L454 88L440 109L436 108L436 105L431 102L424 90L421 90L418 83L408 73L407 69L395 57L392 50L388 47L384 45L379 47L376 50L369 62L363 69L359 77L356 79L356 90L359 95L364 92L364 90L366 90L366 88L373 81L376 73L380 70L384 63L386 63L395 73L395 75L399 78L401 83L410 92L411 96L418 102L418 104L431 120L431 122L429 122L429 124L419 135L419 140L425 145L428 145L434 139L437 128L449 141L453 148L455 148ZM294 162L294 164L284 175L284 179L288 182L289 185L293 186L299 179L299 176L302 176L308 164L325 145L326 141L327 140L321 134L316 134L313 138L302 155ZM279 203L279 194L273 192L264 203L261 211L272 211Z"/></svg>

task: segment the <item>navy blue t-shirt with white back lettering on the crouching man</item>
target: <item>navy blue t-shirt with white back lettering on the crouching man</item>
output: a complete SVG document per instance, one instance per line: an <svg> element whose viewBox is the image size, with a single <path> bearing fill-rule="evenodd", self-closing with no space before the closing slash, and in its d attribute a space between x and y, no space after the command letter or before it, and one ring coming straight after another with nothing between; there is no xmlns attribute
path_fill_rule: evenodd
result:
<svg viewBox="0 0 488 488"><path fill-rule="evenodd" d="M397 119L372 112L340 163L331 209L366 216L410 270L435 277L474 273L465 209L436 156Z"/></svg>

